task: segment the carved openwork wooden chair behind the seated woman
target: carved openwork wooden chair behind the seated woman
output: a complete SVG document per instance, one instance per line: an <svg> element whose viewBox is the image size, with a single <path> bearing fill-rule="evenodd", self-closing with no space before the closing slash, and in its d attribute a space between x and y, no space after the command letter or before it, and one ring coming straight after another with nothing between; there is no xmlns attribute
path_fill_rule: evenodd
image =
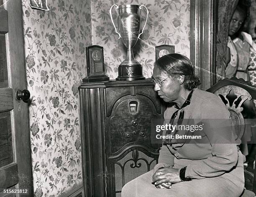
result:
<svg viewBox="0 0 256 197"><path fill-rule="evenodd" d="M256 87L251 85L250 82L233 77L231 79L220 80L206 91L217 95L225 103L230 112L232 125L235 128L237 138L241 139L245 131L245 120L243 117L244 104L251 99L256 99ZM247 170L244 170L244 175L247 190L244 190L241 197L255 196L250 191L256 193L256 168L254 168L255 176Z"/></svg>

